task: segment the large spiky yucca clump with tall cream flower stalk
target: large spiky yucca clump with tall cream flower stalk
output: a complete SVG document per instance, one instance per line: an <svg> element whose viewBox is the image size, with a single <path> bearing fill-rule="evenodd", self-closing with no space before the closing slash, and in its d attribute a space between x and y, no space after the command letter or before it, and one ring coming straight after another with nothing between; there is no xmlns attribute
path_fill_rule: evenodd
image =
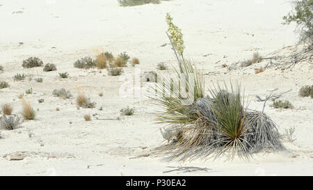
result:
<svg viewBox="0 0 313 190"><path fill-rule="evenodd" d="M178 49L175 45L172 48ZM167 154L167 159L217 158L220 155L249 159L253 152L262 149L284 149L275 122L263 112L248 111L239 84L231 83L231 88L226 84L224 88L214 86L209 90L211 96L205 95L203 77L183 55L176 55L177 77L163 76L163 82L158 82L150 91L154 93L152 100L160 106L157 120L166 124L161 133L168 145L159 150ZM188 85L179 88L184 81Z"/></svg>

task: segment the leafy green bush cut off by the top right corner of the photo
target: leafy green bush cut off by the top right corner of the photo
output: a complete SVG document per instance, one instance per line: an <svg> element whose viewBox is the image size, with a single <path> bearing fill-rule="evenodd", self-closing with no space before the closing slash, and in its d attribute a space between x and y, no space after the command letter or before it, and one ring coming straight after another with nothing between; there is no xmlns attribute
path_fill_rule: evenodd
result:
<svg viewBox="0 0 313 190"><path fill-rule="evenodd" d="M293 1L294 10L284 16L283 24L295 22L300 33L300 42L308 45L308 49L313 48L313 1L300 0Z"/></svg>

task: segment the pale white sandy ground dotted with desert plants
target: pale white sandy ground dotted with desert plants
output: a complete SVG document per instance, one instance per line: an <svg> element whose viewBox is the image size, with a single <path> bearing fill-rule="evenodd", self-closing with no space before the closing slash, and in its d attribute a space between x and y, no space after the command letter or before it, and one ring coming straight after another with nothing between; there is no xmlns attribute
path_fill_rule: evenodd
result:
<svg viewBox="0 0 313 190"><path fill-rule="evenodd" d="M312 64L301 63L287 71L273 68L259 74L255 74L255 68L267 61L230 72L220 67L250 58L253 52L267 56L275 51L284 53L294 45L295 26L281 24L289 10L286 0L173 0L126 8L115 0L0 1L0 65L4 67L0 80L10 84L10 88L0 90L0 104L10 103L13 112L20 114L22 103L17 95L33 88L26 99L39 109L35 120L24 121L15 130L0 131L0 175L312 175L313 100L298 96L301 86L312 85ZM295 127L296 140L282 140L287 152L261 152L249 162L238 158L163 161L151 153L164 143L159 132L162 126L154 120L157 108L151 101L120 96L122 79L108 75L106 70L99 73L97 69L73 67L77 59L95 56L95 49L136 56L141 61L136 68L141 72L156 71L159 62L175 65L170 45L161 46L168 44L167 12L184 33L184 54L203 73L212 73L204 75L207 88L218 81L238 80L250 99L250 108L257 110L262 110L263 103L257 102L255 95L264 97L268 95L266 90L274 88L278 88L277 93L291 89L280 100L289 100L294 109L273 109L270 104L265 108L280 133ZM22 61L29 56L54 63L58 70L22 68ZM123 75L134 74L136 68L129 65ZM59 72L68 72L70 77L60 79ZM13 81L17 73L42 77L43 83ZM54 97L52 91L59 88L70 90L74 97ZM97 102L96 108L77 109L77 88ZM39 104L41 98L45 102ZM120 109L126 106L136 109L134 116L120 116ZM83 119L88 113L90 122ZM10 160L17 157L16 153L23 159ZM147 154L150 156L137 157ZM168 166L209 170L163 173L171 169Z"/></svg>

